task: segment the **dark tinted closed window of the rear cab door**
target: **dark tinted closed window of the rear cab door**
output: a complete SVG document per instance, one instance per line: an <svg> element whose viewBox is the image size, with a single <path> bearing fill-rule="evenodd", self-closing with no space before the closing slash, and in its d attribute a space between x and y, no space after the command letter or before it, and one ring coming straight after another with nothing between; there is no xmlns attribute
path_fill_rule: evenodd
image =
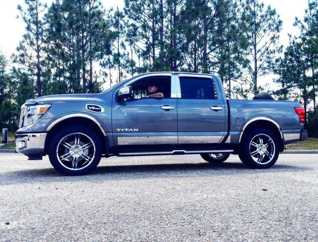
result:
<svg viewBox="0 0 318 242"><path fill-rule="evenodd" d="M211 78L180 77L181 98L217 99L215 84Z"/></svg>

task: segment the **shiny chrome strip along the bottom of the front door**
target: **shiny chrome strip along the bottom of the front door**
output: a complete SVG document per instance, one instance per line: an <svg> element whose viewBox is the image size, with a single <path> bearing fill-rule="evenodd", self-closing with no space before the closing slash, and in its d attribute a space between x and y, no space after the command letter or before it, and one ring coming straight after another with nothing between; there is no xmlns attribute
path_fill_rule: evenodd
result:
<svg viewBox="0 0 318 242"><path fill-rule="evenodd" d="M118 145L177 144L178 136L125 136L117 138Z"/></svg>

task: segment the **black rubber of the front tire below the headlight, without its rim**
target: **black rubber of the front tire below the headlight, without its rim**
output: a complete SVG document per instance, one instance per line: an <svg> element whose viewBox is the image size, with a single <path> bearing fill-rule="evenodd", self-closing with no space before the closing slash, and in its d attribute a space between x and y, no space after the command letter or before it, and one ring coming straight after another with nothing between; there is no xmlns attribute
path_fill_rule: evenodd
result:
<svg viewBox="0 0 318 242"><path fill-rule="evenodd" d="M92 139L95 145L95 156L93 161L87 167L80 170L67 169L59 162L59 159L56 155L56 149L61 139L64 138L66 135L70 135L73 133L83 133L87 135L88 137ZM101 159L102 152L101 152L100 139L91 129L86 128L84 126L70 126L70 127L63 128L56 135L53 136L49 145L48 153L49 153L50 162L57 171L67 176L80 176L80 175L85 175L89 173L98 165Z"/></svg>

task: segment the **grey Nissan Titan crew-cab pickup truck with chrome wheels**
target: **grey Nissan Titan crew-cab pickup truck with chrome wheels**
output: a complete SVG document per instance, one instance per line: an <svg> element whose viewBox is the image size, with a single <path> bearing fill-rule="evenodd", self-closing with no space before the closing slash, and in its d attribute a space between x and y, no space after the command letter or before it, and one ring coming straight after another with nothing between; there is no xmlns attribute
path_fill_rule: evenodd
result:
<svg viewBox="0 0 318 242"><path fill-rule="evenodd" d="M163 97L149 96L149 85ZM84 175L110 156L200 154L219 163L235 154L264 169L286 144L307 139L304 114L297 101L231 99L215 75L143 73L102 93L26 100L16 151L48 155L65 175Z"/></svg>

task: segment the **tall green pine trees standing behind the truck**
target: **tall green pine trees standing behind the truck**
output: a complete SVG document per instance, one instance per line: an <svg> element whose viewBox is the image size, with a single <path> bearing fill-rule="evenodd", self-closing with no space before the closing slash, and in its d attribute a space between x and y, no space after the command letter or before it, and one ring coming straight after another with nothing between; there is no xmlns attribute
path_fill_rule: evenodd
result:
<svg viewBox="0 0 318 242"><path fill-rule="evenodd" d="M16 130L26 99L99 93L138 73L182 71L218 75L232 98L265 91L297 100L305 129L318 137L316 0L295 17L299 35L287 46L279 13L258 0L125 0L122 9L25 0L17 9L26 27L10 58L0 50L0 129ZM275 78L260 81L269 74Z"/></svg>

